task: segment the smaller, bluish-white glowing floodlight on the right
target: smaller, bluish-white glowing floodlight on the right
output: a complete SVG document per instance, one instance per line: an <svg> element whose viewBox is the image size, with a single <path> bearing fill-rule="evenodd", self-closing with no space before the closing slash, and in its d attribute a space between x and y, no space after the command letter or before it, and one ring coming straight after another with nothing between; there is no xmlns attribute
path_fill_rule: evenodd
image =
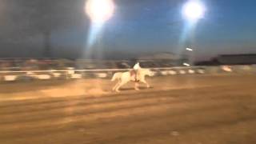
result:
<svg viewBox="0 0 256 144"><path fill-rule="evenodd" d="M182 8L183 16L190 21L197 21L203 18L205 11L205 6L198 0L190 0Z"/></svg>

